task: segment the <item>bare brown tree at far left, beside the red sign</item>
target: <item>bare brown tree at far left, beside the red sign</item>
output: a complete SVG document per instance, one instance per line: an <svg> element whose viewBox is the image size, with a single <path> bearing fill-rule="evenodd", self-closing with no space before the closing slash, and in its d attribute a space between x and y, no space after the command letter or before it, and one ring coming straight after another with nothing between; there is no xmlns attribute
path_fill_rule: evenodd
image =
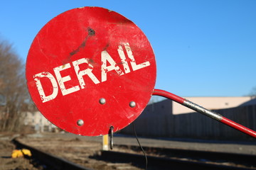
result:
<svg viewBox="0 0 256 170"><path fill-rule="evenodd" d="M0 42L0 130L18 131L22 109L29 102L25 69L21 59L8 42ZM4 102L3 102L4 100ZM3 104L4 103L4 104Z"/></svg>

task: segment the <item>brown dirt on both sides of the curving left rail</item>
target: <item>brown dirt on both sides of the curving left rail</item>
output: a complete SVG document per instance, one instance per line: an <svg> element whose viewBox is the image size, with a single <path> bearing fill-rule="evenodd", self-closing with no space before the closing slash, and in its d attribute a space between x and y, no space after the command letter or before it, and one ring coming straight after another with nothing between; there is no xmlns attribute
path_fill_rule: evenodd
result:
<svg viewBox="0 0 256 170"><path fill-rule="evenodd" d="M11 152L15 146L11 143L14 136L3 136L0 134L0 170L43 170L43 165L38 165L32 160L23 157L13 159ZM57 157L67 159L75 164L80 164L88 169L112 170L112 169L134 169L141 170L137 166L117 162L105 162L100 159L99 154L102 149L101 142L80 140L78 137L60 138L54 135L37 137L18 137L18 141ZM117 151L117 149L116 149Z"/></svg>

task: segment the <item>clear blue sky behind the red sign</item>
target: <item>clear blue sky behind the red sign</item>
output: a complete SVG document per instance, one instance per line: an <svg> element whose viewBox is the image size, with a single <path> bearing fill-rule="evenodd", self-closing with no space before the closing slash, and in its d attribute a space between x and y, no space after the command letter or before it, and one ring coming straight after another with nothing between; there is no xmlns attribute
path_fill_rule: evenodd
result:
<svg viewBox="0 0 256 170"><path fill-rule="evenodd" d="M26 62L53 17L100 6L137 24L156 56L156 89L178 96L245 96L256 86L256 1L2 1L0 39Z"/></svg>

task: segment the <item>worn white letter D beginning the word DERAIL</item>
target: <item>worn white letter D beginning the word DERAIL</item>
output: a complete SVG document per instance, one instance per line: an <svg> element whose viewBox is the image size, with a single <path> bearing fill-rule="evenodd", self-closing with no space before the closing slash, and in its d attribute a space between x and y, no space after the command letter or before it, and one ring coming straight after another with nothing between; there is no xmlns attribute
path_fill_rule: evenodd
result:
<svg viewBox="0 0 256 170"><path fill-rule="evenodd" d="M49 96L46 96L45 92L43 91L43 86L40 81L42 77L47 77L50 80L50 83L53 85L52 87L53 93L50 94ZM41 73L35 74L33 78L36 81L36 87L38 88L38 92L39 92L39 95L41 96L41 100L43 103L45 103L46 101L53 100L57 96L58 84L52 74L50 74L49 72L41 72Z"/></svg>

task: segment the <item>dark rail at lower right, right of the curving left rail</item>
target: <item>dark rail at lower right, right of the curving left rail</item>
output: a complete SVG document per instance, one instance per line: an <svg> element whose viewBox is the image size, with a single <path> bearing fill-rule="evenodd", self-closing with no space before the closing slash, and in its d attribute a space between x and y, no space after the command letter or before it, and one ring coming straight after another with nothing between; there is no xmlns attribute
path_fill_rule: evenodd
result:
<svg viewBox="0 0 256 170"><path fill-rule="evenodd" d="M116 147L128 147L134 151L139 147L117 145ZM249 154L230 154L223 152L205 152L185 149L165 149L157 147L144 147L145 152L158 155L147 156L148 166L152 169L256 169L256 156ZM142 154L127 154L122 152L102 151L102 159L119 162L145 162ZM150 169L150 168L149 168Z"/></svg>

